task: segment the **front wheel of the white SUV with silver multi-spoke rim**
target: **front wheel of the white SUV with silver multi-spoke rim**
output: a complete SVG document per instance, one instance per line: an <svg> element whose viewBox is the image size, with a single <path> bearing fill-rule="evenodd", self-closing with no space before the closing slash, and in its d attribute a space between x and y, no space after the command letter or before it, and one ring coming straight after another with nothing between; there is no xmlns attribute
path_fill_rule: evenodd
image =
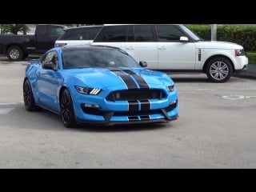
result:
<svg viewBox="0 0 256 192"><path fill-rule="evenodd" d="M226 82L233 74L233 68L228 59L213 58L207 63L206 74L211 82Z"/></svg>

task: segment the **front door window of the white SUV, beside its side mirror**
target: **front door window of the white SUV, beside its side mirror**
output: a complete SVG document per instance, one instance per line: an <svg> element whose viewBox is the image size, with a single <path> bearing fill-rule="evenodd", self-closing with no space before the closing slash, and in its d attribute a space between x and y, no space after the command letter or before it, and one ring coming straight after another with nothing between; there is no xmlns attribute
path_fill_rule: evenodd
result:
<svg viewBox="0 0 256 192"><path fill-rule="evenodd" d="M175 26L158 25L156 26L158 42L179 42L182 32Z"/></svg>

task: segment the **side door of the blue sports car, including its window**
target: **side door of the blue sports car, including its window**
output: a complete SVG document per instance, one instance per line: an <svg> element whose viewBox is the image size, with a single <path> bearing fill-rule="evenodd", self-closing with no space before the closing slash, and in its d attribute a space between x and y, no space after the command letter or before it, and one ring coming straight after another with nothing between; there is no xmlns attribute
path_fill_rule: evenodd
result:
<svg viewBox="0 0 256 192"><path fill-rule="evenodd" d="M47 69L43 66L55 59L54 69ZM51 51L45 54L42 59L42 68L37 71L38 99L43 106L50 110L58 111L58 86L61 78L58 77L58 53Z"/></svg>

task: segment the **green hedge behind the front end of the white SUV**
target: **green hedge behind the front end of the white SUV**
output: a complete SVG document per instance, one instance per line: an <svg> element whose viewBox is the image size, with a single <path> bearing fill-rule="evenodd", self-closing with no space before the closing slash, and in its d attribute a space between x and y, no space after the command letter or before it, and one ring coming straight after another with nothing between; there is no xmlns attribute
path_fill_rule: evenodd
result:
<svg viewBox="0 0 256 192"><path fill-rule="evenodd" d="M186 25L198 34L200 38L210 40L210 25ZM217 40L235 42L242 45L246 51L256 51L256 26L218 26Z"/></svg>

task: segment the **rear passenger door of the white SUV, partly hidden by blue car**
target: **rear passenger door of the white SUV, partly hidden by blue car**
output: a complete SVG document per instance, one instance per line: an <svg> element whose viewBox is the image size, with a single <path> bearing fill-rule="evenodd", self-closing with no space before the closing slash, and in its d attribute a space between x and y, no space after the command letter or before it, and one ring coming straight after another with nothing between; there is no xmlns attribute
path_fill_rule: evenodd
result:
<svg viewBox="0 0 256 192"><path fill-rule="evenodd" d="M147 62L147 68L158 68L158 50L153 25L132 25L127 33L125 50L136 61Z"/></svg>

